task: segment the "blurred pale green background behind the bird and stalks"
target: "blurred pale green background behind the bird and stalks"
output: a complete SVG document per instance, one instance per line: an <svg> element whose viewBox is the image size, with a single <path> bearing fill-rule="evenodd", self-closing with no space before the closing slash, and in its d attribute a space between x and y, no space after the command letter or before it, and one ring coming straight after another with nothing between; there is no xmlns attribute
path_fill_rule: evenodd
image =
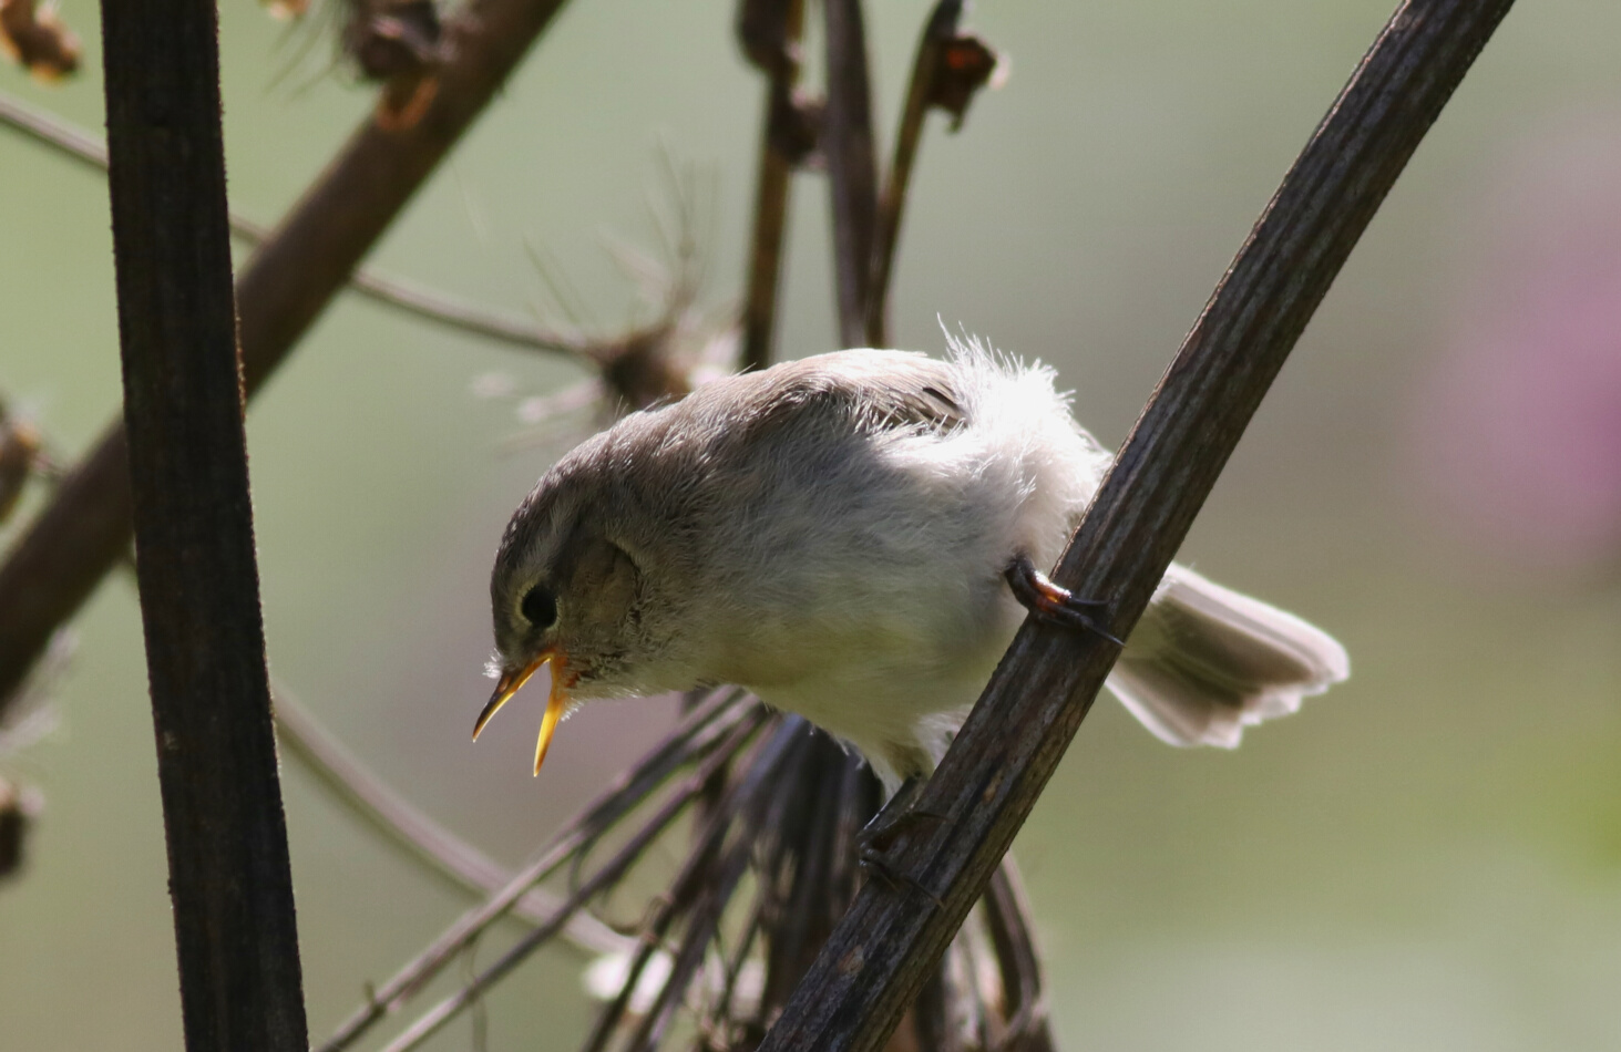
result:
<svg viewBox="0 0 1621 1052"><path fill-rule="evenodd" d="M880 128L927 5L869 5ZM84 73L0 89L101 126ZM1107 444L1135 418L1389 0L982 3L1012 58L934 118L895 327L937 316L1055 365ZM527 311L545 248L603 326L653 240L663 141L713 173L710 303L733 301L759 78L729 3L577 0L373 263ZM274 220L370 107L256 5L225 5L237 209ZM1101 703L1018 841L1067 1049L1621 1047L1621 6L1511 13L1397 183L1183 553L1350 650L1349 684L1237 752L1167 749ZM101 178L0 131L0 389L71 459L117 410ZM781 347L833 344L827 195L794 185ZM554 311L553 311L554 313ZM486 574L548 459L511 400L577 373L345 297L250 413L274 673L415 802L515 862L652 741L666 702L527 715L477 749ZM577 433L577 431L575 431ZM32 498L37 504L39 494ZM26 509L24 509L26 511ZM15 528L15 527L13 527ZM133 580L78 624L60 728L5 773L47 810L0 887L0 1047L180 1044ZM538 699L520 699L524 705ZM652 716L648 713L653 713ZM449 922L444 892L284 781L313 1036ZM491 999L490 1047L571 1049L582 956ZM470 1042L452 1026L434 1047Z"/></svg>

